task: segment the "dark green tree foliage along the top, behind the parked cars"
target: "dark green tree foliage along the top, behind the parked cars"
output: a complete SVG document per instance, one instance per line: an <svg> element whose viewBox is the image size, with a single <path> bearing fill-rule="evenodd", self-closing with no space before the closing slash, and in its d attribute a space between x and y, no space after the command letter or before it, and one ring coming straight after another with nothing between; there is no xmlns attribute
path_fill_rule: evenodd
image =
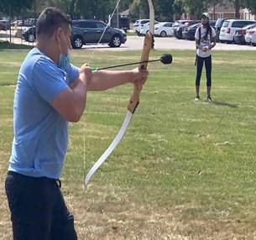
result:
<svg viewBox="0 0 256 240"><path fill-rule="evenodd" d="M228 0L238 9L249 8L252 13L256 13L256 3L254 0ZM222 0L154 0L155 18L159 21L172 21L180 18L182 13L190 13L191 18L201 18L201 13L205 12L214 3L221 3ZM38 16L46 7L57 7L69 13L72 18L97 18L107 21L118 3L117 0L2 0L0 1L0 13L5 16ZM149 18L148 0L122 0L118 10L122 12L130 8L131 19Z"/></svg>

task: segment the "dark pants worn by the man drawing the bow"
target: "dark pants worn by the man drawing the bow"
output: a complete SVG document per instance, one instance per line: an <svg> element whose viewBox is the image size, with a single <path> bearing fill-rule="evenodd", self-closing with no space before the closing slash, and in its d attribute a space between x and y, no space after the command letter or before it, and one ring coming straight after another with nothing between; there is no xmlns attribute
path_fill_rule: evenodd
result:
<svg viewBox="0 0 256 240"><path fill-rule="evenodd" d="M74 217L56 180L8 172L5 189L13 240L76 240Z"/></svg>

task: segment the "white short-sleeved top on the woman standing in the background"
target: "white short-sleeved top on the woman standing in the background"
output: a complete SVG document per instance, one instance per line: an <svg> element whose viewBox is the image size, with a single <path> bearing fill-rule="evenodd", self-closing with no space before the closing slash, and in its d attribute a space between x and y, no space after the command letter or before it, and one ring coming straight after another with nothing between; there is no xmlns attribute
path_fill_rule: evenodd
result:
<svg viewBox="0 0 256 240"><path fill-rule="evenodd" d="M204 46L210 47L210 45L211 45L210 32L208 33L207 38L205 39L204 36L206 34L206 28L204 28L202 24L200 25L200 27L201 27L201 40L200 40L199 45L200 45L200 47L204 47ZM199 39L199 28L200 27L198 27L196 29L195 39L197 39L197 40ZM214 38L216 36L216 32L215 32L215 29L212 28L212 26L211 26L211 29L212 29L212 38ZM201 48L198 48L196 50L196 54L199 55L201 58L206 58L211 55L211 50L203 51L203 50L201 50Z"/></svg>

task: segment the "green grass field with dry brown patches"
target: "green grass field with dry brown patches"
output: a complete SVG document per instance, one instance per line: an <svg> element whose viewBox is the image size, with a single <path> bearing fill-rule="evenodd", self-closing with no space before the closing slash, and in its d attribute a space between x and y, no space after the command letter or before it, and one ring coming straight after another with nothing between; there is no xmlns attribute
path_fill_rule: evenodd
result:
<svg viewBox="0 0 256 240"><path fill-rule="evenodd" d="M13 138L13 92L28 50L0 51L0 232L11 239L4 179ZM72 51L73 62L91 50ZM151 59L164 51L154 50ZM117 149L84 175L118 133L132 85L89 92L70 125L61 177L79 239L256 239L256 55L213 51L212 98L194 102L194 51L172 51L172 65L149 64L140 105ZM138 61L139 51L96 51L91 65ZM130 67L123 68L129 69Z"/></svg>

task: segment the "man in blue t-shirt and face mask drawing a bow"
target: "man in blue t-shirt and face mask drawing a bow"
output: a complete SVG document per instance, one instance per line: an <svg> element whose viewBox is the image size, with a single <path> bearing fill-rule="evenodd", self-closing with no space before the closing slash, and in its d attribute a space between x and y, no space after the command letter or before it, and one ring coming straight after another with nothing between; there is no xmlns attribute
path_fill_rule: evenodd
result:
<svg viewBox="0 0 256 240"><path fill-rule="evenodd" d="M91 71L70 63L71 22L57 8L40 14L37 44L18 73L13 103L13 146L6 193L14 240L77 239L74 217L65 206L60 177L68 143L68 122L80 120L86 92L131 82L148 72Z"/></svg>

